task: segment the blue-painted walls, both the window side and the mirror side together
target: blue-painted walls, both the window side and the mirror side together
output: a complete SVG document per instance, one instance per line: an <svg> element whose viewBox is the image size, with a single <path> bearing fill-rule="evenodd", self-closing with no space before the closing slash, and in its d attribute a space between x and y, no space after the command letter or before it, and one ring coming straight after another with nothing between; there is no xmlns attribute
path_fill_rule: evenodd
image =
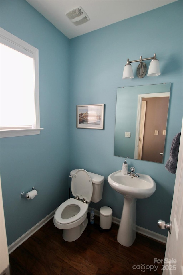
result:
<svg viewBox="0 0 183 275"><path fill-rule="evenodd" d="M75 168L105 176L103 198L90 206L111 206L113 216L120 218L123 197L107 182L123 162L113 156L117 87L171 82L164 163L128 160L157 184L154 195L137 200L137 225L166 235L156 222L170 219L175 175L164 166L182 123L182 1L69 40L26 1L1 0L1 28L39 49L44 128L40 135L0 140L8 245L67 199L68 173ZM154 53L160 76L122 80L127 58ZM77 129L76 105L99 103L105 104L104 130ZM21 199L20 193L33 186L39 195L32 201Z"/></svg>

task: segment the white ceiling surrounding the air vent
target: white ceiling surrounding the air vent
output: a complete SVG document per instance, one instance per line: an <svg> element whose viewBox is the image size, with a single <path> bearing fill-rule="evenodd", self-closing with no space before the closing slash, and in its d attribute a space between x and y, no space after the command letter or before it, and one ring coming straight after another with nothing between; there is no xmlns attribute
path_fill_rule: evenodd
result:
<svg viewBox="0 0 183 275"><path fill-rule="evenodd" d="M177 0L27 0L69 39ZM81 6L90 20L75 26L65 15Z"/></svg>

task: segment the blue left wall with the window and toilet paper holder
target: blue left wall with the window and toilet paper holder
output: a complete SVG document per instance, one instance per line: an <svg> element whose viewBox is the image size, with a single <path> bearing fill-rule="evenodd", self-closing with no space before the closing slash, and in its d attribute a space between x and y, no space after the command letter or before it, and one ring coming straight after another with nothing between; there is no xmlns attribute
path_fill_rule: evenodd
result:
<svg viewBox="0 0 183 275"><path fill-rule="evenodd" d="M69 39L26 1L1 1L1 28L39 49L40 135L1 138L8 245L68 197ZM38 196L21 199L35 186Z"/></svg>

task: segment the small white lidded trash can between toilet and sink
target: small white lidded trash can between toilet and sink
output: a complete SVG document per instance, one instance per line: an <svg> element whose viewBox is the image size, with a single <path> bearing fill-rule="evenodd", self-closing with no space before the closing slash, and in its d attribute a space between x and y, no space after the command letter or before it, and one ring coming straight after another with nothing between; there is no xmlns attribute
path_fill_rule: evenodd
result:
<svg viewBox="0 0 183 275"><path fill-rule="evenodd" d="M100 208L100 227L102 229L110 229L112 222L112 209L108 206Z"/></svg>

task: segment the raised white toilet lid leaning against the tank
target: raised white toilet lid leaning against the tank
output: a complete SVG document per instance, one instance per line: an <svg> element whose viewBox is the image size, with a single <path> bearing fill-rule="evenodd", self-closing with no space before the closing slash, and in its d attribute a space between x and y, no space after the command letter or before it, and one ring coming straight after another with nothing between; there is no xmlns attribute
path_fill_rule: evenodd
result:
<svg viewBox="0 0 183 275"><path fill-rule="evenodd" d="M79 199L85 199L87 202L91 201L93 186L92 180L86 170L79 169L74 174L71 181L71 191L75 197L79 196Z"/></svg>

